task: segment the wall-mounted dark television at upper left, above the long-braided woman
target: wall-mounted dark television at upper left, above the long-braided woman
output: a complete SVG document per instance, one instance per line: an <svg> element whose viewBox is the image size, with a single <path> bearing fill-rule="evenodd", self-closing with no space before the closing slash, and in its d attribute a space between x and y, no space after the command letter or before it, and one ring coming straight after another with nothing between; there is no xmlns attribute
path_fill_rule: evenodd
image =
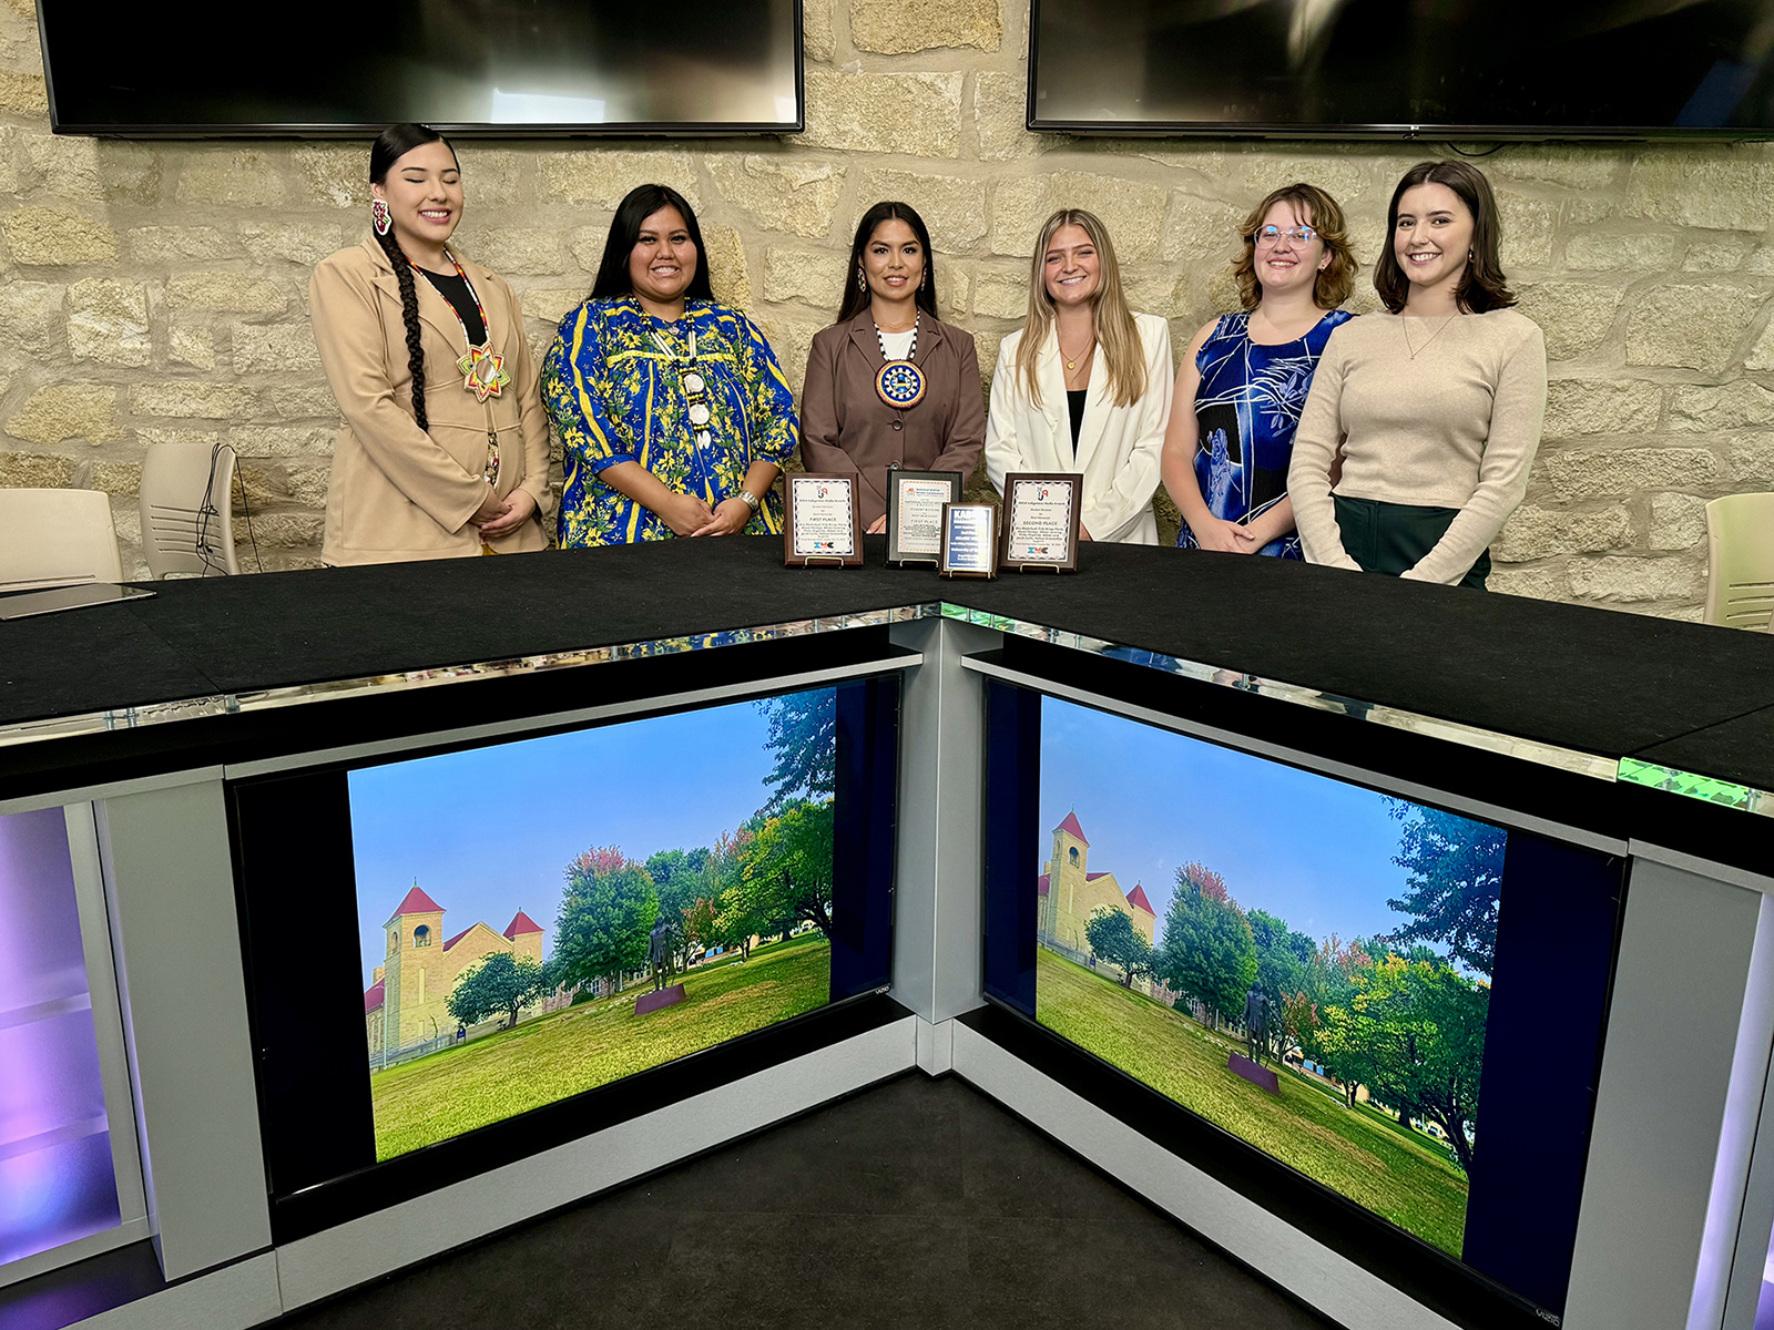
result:
<svg viewBox="0 0 1774 1330"><path fill-rule="evenodd" d="M798 0L392 0L291 14L43 0L62 133L713 135L804 128Z"/></svg>

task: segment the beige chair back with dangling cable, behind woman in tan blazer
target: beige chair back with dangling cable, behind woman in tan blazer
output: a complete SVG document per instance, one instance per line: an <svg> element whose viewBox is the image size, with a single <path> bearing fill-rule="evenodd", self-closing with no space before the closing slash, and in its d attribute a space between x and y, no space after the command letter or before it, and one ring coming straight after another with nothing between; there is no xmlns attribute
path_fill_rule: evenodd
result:
<svg viewBox="0 0 1774 1330"><path fill-rule="evenodd" d="M234 560L234 449L151 443L142 461L142 555L169 573L239 573Z"/></svg>

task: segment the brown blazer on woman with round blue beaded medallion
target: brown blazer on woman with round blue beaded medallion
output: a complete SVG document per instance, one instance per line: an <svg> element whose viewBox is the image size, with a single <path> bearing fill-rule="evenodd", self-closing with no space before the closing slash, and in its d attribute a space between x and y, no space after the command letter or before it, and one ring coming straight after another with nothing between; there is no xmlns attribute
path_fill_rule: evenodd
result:
<svg viewBox="0 0 1774 1330"><path fill-rule="evenodd" d="M800 392L800 459L809 472L859 475L862 525L887 512L887 466L960 472L972 479L986 445L985 388L972 333L928 314L912 362L924 371L924 399L908 410L875 392L882 344L875 316L816 333Z"/></svg>

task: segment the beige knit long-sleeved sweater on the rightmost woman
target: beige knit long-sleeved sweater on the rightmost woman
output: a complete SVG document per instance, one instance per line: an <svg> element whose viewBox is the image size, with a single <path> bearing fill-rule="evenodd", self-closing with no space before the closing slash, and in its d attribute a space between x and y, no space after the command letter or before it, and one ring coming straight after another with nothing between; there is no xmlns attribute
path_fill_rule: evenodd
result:
<svg viewBox="0 0 1774 1330"><path fill-rule="evenodd" d="M1545 337L1524 314L1350 319L1325 344L1293 436L1288 497L1306 559L1357 567L1330 502L1341 449L1338 495L1460 509L1405 573L1458 582L1522 502L1545 408Z"/></svg>

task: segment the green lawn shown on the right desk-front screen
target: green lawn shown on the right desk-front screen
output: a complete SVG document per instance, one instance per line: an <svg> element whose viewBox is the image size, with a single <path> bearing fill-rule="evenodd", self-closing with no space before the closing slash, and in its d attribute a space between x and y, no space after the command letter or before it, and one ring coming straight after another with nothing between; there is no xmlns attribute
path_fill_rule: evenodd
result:
<svg viewBox="0 0 1774 1330"><path fill-rule="evenodd" d="M1041 1025L1444 1252L1460 1256L1465 1179L1435 1140L1288 1068L1281 1098L1226 1069L1242 1048L1180 1011L1038 949Z"/></svg>

